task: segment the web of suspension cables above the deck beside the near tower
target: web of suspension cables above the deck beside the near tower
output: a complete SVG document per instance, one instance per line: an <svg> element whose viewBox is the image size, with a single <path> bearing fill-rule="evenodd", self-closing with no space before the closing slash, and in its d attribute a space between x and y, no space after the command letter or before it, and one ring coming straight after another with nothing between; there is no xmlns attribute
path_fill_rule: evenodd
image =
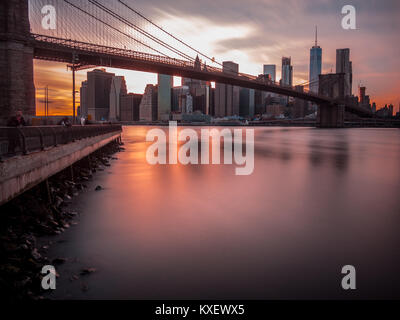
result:
<svg viewBox="0 0 400 320"><path fill-rule="evenodd" d="M150 52L168 58L179 58L194 64L198 56L210 60L210 66L223 66L215 58L189 45L177 36L166 31L159 24L151 21L144 14L133 8L126 1L105 0L63 0L57 7L57 28L42 28L40 12L46 0L31 2L30 18L33 22L32 33L55 36L67 40L77 40L86 43L106 45L134 51ZM65 5L60 5L65 4ZM38 13L38 14L36 14ZM133 14L132 14L133 13ZM40 31L39 31L40 30ZM161 33L157 32L161 30ZM188 50L185 50L188 49ZM206 61L200 65L208 68ZM230 70L224 67L224 70ZM235 72L235 70L231 70ZM239 73L242 76L248 76Z"/></svg>

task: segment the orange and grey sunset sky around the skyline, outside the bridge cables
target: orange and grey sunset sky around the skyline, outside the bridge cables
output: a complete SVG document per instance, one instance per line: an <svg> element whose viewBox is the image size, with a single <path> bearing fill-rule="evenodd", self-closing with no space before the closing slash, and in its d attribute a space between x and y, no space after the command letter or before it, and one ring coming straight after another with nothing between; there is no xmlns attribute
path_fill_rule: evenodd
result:
<svg viewBox="0 0 400 320"><path fill-rule="evenodd" d="M36 5L32 3L36 2ZM45 1L61 5L63 1ZM81 1L85 2L85 1ZM294 83L308 80L309 50L318 25L318 43L323 50L323 73L335 72L336 48L350 48L353 61L353 93L359 83L378 107L400 103L400 1L398 0L126 0L132 7L217 61L239 63L240 72L258 75L263 64L277 65L280 79L282 56L291 56ZM31 0L31 15L40 17L39 0ZM105 4L116 3L116 0ZM341 27L344 5L356 8L357 29ZM63 11L60 10L62 15ZM70 15L72 16L72 15ZM73 19L66 17L65 19ZM58 22L60 22L60 16ZM31 19L31 24L32 19ZM58 25L59 26L59 25ZM37 26L34 32L41 33ZM61 63L35 60L37 111L42 113L41 88L50 88L52 114L70 114L72 75ZM124 75L128 90L143 93L154 74L107 68ZM77 74L77 89L86 79ZM176 84L179 80L176 79ZM79 104L79 96L78 103Z"/></svg>

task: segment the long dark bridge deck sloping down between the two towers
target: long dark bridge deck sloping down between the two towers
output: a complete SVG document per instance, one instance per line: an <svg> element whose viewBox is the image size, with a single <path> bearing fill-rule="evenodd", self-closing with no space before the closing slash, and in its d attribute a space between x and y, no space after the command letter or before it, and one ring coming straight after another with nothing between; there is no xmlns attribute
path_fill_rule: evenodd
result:
<svg viewBox="0 0 400 320"><path fill-rule="evenodd" d="M72 63L75 59L83 66L104 66L162 73L268 91L318 104L334 102L329 97L297 91L294 87L280 86L272 81L257 80L255 76L248 74L226 73L222 72L222 69L204 64L200 68L195 68L193 62L190 61L38 34L33 34L32 39L36 59L65 63Z"/></svg>

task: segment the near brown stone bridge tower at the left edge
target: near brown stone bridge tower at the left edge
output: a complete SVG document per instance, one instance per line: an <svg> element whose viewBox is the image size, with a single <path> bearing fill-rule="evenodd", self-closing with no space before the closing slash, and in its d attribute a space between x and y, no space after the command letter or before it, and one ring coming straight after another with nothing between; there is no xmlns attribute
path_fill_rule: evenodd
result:
<svg viewBox="0 0 400 320"><path fill-rule="evenodd" d="M28 0L0 2L0 125L18 110L36 112L28 10Z"/></svg>

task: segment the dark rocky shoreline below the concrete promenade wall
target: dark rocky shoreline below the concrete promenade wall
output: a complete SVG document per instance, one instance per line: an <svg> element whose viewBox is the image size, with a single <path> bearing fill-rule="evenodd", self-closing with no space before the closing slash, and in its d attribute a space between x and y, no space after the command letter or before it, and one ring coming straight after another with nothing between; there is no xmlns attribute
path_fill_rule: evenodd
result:
<svg viewBox="0 0 400 320"><path fill-rule="evenodd" d="M123 151L112 142L0 207L0 296L6 301L43 299L41 269L49 261L48 245L41 236L60 234L78 212L69 209L73 197L88 188L96 171L110 166L113 155ZM97 186L95 190L101 190ZM51 245L51 244L50 244Z"/></svg>

